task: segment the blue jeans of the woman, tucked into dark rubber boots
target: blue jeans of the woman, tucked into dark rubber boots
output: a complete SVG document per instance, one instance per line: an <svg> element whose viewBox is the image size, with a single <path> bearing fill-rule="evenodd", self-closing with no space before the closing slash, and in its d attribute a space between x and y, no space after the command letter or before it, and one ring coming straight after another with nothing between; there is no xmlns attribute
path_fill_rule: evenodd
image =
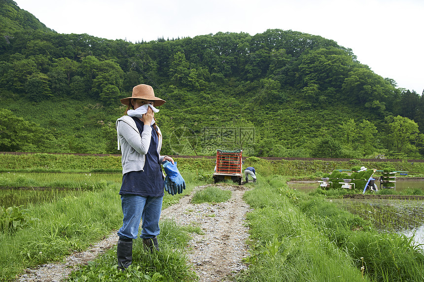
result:
<svg viewBox="0 0 424 282"><path fill-rule="evenodd" d="M124 220L122 227L118 230L118 236L136 239L139 233L140 220L142 220L141 238L153 238L159 235L162 199L163 197L121 195Z"/></svg>

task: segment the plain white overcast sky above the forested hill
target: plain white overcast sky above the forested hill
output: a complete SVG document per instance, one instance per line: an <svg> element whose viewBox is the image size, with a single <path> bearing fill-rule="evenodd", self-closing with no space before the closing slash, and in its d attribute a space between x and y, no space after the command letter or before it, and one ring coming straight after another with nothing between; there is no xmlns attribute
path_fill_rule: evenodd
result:
<svg viewBox="0 0 424 282"><path fill-rule="evenodd" d="M131 42L267 29L320 35L424 90L424 0L15 0L48 28Z"/></svg>

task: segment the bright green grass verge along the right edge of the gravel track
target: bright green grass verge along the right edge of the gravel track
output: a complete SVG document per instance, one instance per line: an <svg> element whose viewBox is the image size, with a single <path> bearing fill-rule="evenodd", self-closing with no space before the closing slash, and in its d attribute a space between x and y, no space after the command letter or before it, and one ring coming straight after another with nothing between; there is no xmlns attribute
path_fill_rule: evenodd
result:
<svg viewBox="0 0 424 282"><path fill-rule="evenodd" d="M239 281L363 281L353 259L290 203L299 200L292 190L261 181L245 199L254 208L247 214L251 265Z"/></svg>

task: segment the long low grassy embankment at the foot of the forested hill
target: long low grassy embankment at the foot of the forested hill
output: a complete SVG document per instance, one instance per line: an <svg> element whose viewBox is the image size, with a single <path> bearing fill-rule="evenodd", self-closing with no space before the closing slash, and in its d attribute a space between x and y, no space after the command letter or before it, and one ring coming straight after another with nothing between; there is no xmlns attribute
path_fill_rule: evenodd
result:
<svg viewBox="0 0 424 282"><path fill-rule="evenodd" d="M178 167L185 171L198 171L212 174L215 166L214 159L178 158ZM0 154L0 172L121 172L121 158L119 156L79 156L64 154ZM325 173L336 169L349 170L354 166L365 166L369 169L383 170L393 167L397 171L412 172L409 176L424 176L424 163L406 161L399 162L362 162L352 159L349 162L335 162L322 160L300 161L267 161L257 157L247 158L244 167L253 166L263 176L283 175L297 179L319 179Z"/></svg>

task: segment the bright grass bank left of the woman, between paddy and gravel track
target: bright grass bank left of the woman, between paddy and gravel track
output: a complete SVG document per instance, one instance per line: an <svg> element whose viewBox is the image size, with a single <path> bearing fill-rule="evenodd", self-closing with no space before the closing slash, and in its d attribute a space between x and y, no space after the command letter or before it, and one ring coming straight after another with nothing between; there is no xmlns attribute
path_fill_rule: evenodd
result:
<svg viewBox="0 0 424 282"><path fill-rule="evenodd" d="M122 221L118 185L77 193L41 205L29 204L26 225L0 233L0 280L12 280L27 267L86 249Z"/></svg>

